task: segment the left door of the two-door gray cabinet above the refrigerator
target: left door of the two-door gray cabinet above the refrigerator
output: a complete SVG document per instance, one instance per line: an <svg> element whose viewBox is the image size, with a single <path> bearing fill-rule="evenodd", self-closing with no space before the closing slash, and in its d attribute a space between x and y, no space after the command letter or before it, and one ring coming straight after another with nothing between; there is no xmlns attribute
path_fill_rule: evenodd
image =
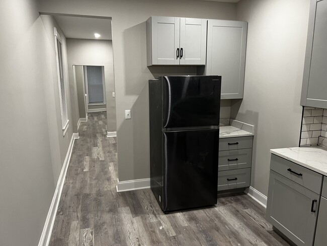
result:
<svg viewBox="0 0 327 246"><path fill-rule="evenodd" d="M153 16L146 24L147 65L179 65L180 18Z"/></svg>

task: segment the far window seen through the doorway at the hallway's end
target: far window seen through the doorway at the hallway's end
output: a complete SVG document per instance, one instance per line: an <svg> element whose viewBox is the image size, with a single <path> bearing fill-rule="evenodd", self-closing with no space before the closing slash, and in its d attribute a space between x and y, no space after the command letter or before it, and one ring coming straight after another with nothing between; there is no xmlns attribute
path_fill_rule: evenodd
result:
<svg viewBox="0 0 327 246"><path fill-rule="evenodd" d="M106 90L104 83L104 67L86 66L86 87L89 105L106 104Z"/></svg>

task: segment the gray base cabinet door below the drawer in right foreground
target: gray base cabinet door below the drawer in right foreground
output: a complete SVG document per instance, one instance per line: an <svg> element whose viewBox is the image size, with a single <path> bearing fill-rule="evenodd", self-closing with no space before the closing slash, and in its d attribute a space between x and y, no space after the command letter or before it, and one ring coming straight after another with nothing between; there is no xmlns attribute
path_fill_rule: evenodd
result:
<svg viewBox="0 0 327 246"><path fill-rule="evenodd" d="M270 171L267 220L296 245L312 245L319 195Z"/></svg>

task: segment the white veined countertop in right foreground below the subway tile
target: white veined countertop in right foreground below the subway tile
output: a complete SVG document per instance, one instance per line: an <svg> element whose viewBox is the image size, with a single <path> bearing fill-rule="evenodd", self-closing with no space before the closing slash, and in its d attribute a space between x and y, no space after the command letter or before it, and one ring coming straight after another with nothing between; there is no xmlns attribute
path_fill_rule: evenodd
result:
<svg viewBox="0 0 327 246"><path fill-rule="evenodd" d="M327 149L319 146L293 147L270 150L272 154L290 160L327 176Z"/></svg>

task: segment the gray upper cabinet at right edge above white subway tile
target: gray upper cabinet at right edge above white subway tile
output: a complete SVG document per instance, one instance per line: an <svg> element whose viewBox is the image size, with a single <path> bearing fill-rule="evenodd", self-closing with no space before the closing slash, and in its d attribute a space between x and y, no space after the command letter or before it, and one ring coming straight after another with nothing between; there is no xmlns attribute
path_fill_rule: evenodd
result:
<svg viewBox="0 0 327 246"><path fill-rule="evenodd" d="M311 0L301 94L303 106L327 108L326 26L327 0Z"/></svg>

